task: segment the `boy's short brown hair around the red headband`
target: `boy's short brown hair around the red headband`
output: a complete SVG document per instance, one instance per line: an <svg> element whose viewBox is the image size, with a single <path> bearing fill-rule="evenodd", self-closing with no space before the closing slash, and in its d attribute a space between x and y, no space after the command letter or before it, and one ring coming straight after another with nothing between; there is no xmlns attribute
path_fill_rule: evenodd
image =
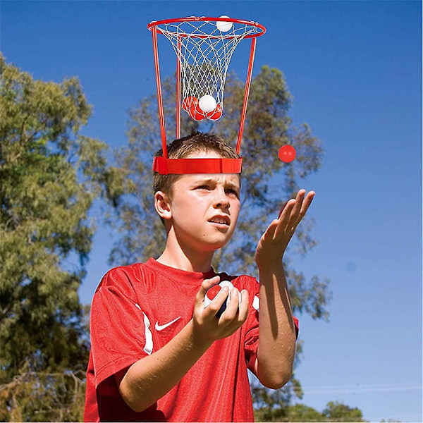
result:
<svg viewBox="0 0 423 423"><path fill-rule="evenodd" d="M213 151L221 155L226 159L240 159L240 155L237 154L233 148L226 144L221 137L216 135L200 133L196 130L183 138L174 140L170 145L167 146L168 159L185 159L192 153L209 152ZM162 157L163 149L159 149L154 157ZM154 194L157 191L165 192L166 195L173 199L173 184L180 179L183 174L169 173L168 175L162 175L159 172L153 171L153 189ZM238 174L241 187L241 176ZM161 223L164 224L164 219L160 217ZM166 228L166 226L165 226Z"/></svg>

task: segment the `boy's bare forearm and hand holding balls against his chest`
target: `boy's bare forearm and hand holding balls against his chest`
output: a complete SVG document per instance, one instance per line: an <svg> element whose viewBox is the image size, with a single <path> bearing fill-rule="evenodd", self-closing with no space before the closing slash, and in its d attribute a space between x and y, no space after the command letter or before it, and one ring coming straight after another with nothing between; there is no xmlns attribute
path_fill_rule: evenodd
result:
<svg viewBox="0 0 423 423"><path fill-rule="evenodd" d="M238 312L238 293L231 295L226 311L219 319L215 314L228 297L225 288L204 309L204 294L219 283L219 276L203 281L195 298L192 319L163 348L135 362L128 371L115 374L116 384L125 403L141 412L154 404L185 376L188 370L217 339L226 338L247 319L248 293L242 292Z"/></svg>

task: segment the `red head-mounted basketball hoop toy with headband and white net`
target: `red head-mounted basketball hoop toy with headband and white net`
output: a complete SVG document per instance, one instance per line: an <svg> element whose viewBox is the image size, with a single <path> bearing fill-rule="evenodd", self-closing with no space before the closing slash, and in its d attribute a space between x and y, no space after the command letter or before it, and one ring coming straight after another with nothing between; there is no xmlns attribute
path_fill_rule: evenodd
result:
<svg viewBox="0 0 423 423"><path fill-rule="evenodd" d="M249 20L228 16L153 21L147 25L153 35L154 67L156 69L157 99L163 157L154 157L153 170L168 173L240 173L240 159L169 159L166 148L163 103L159 70L157 33L171 42L176 53L176 138L180 138L180 109L182 106L195 121L216 121L223 115L223 90L233 51L244 38L251 38L250 63L245 83L243 110L236 152L239 154L243 137L245 114L254 63L257 37L266 32L264 26ZM181 90L182 85L182 90Z"/></svg>

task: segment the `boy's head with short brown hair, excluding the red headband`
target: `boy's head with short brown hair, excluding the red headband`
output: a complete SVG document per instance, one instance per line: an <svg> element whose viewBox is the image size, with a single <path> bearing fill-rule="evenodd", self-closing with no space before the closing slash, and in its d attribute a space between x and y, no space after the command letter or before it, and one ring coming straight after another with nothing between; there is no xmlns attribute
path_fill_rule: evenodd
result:
<svg viewBox="0 0 423 423"><path fill-rule="evenodd" d="M206 133L192 133L175 140L167 152L169 159L240 158L220 137ZM163 150L159 149L154 156L163 156ZM203 238L211 235L210 240L214 239L216 243L225 238L223 245L231 238L240 210L240 173L162 175L154 172L153 187L154 207L167 233L171 226L180 228L182 233L185 227L185 231L197 231L197 235ZM225 216L229 225L210 223L209 219L214 216ZM187 223L196 227L190 228Z"/></svg>

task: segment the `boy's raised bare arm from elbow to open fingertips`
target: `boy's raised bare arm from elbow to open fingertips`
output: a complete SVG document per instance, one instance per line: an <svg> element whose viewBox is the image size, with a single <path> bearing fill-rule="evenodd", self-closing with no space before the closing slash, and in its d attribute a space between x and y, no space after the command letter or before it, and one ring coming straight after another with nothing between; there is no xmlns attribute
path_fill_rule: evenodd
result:
<svg viewBox="0 0 423 423"><path fill-rule="evenodd" d="M305 197L305 190L300 190L296 200L287 202L278 219L270 223L257 245L260 319L255 371L269 388L281 388L292 376L296 336L283 254L314 195L311 191Z"/></svg>

